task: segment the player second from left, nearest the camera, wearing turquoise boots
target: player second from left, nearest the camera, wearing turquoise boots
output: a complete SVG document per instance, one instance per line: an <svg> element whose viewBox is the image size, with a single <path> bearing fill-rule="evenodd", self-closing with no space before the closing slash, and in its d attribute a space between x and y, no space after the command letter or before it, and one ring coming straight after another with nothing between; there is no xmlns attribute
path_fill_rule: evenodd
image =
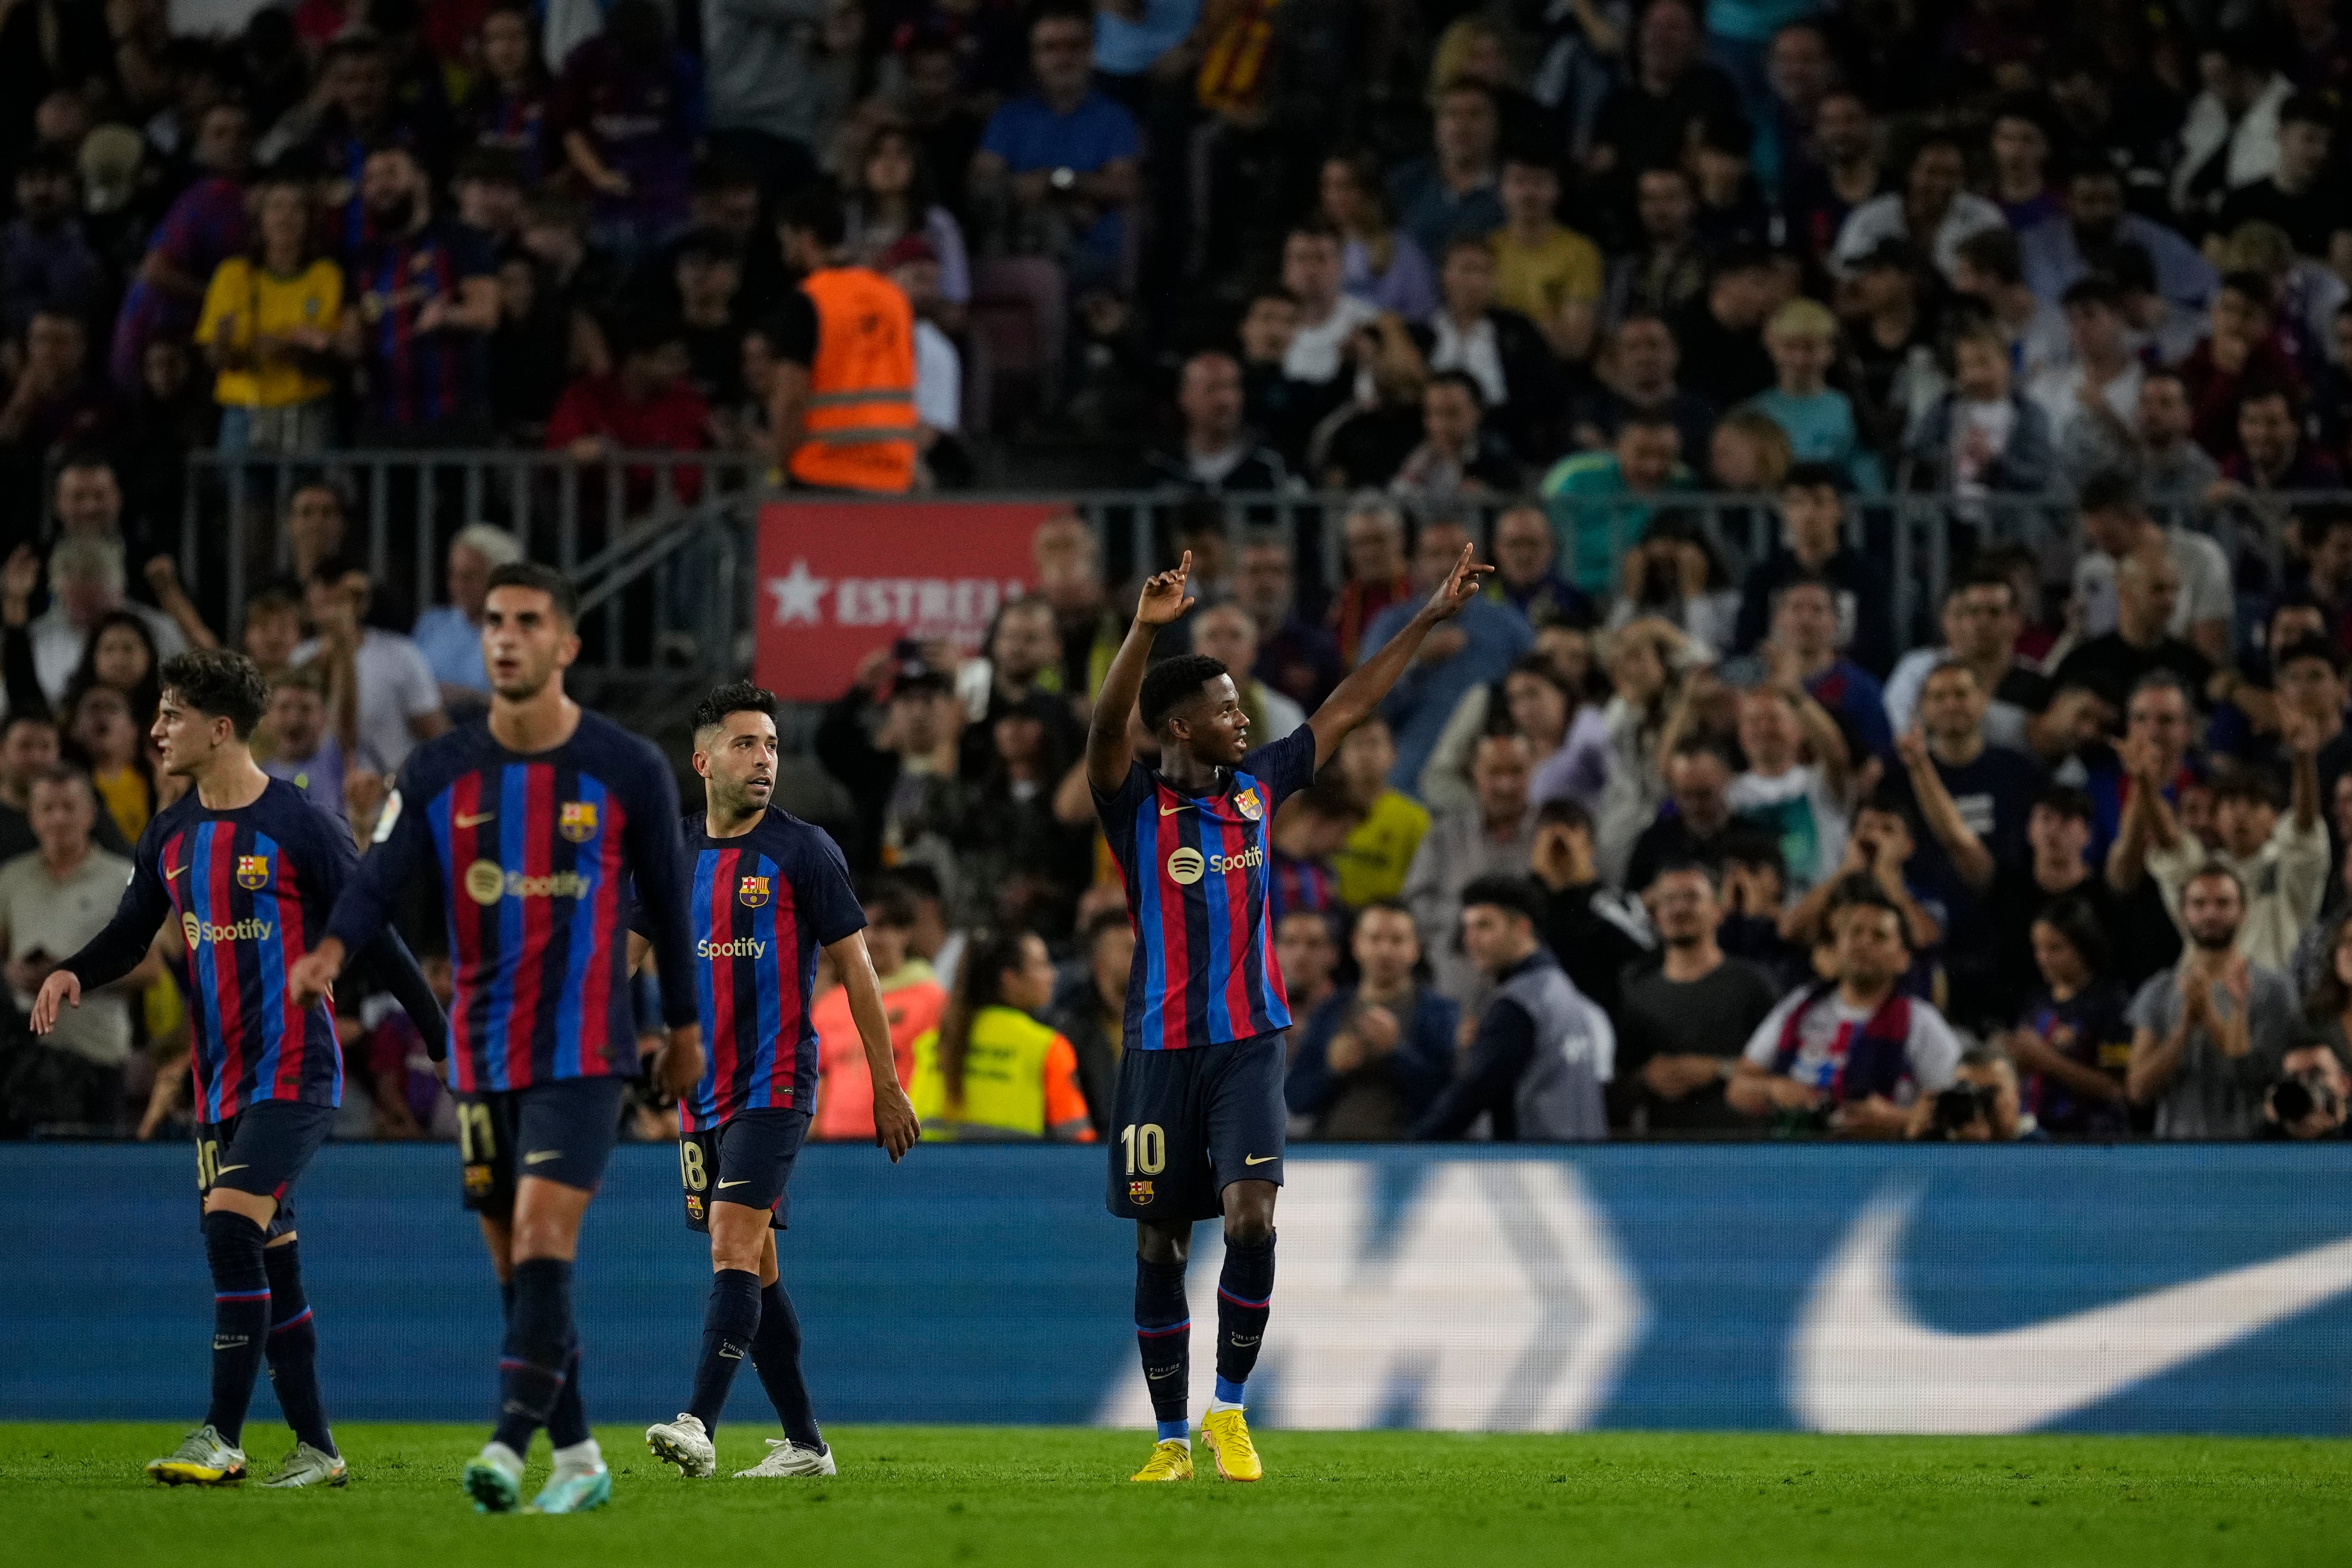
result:
<svg viewBox="0 0 2352 1568"><path fill-rule="evenodd" d="M402 889L437 884L456 994L449 1088L459 1095L468 1192L485 1206L492 1262L510 1281L499 1356L499 1427L466 1465L475 1507L522 1500L522 1458L548 1427L555 1474L532 1509L572 1514L612 1497L588 1436L572 1328L572 1260L604 1175L621 1093L637 1072L628 987L628 882L644 896L670 1037L656 1074L701 1077L694 950L677 879L677 785L661 752L564 696L579 658L579 597L550 567L489 574L482 663L489 717L409 755L374 846L336 900L294 990L327 990L343 954L390 919ZM569 1429L564 1429L569 1425Z"/></svg>

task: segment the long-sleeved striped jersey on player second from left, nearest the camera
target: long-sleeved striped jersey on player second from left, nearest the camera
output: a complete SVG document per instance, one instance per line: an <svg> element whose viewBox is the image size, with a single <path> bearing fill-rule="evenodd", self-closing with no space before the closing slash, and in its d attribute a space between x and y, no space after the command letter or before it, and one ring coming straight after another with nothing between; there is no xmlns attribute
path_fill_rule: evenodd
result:
<svg viewBox="0 0 2352 1568"><path fill-rule="evenodd" d="M593 712L569 741L532 755L506 750L475 719L409 752L327 929L358 947L383 929L402 889L437 884L459 1093L633 1077L630 877L656 889L663 1018L694 1023L668 762Z"/></svg>

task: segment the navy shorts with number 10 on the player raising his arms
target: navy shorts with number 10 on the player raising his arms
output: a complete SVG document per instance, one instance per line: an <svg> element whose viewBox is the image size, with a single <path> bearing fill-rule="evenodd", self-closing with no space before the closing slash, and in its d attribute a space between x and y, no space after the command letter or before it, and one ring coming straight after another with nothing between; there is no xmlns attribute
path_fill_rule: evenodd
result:
<svg viewBox="0 0 2352 1568"><path fill-rule="evenodd" d="M1110 1117L1110 1213L1214 1220L1228 1182L1282 1185L1282 1032L1188 1051L1124 1051Z"/></svg>

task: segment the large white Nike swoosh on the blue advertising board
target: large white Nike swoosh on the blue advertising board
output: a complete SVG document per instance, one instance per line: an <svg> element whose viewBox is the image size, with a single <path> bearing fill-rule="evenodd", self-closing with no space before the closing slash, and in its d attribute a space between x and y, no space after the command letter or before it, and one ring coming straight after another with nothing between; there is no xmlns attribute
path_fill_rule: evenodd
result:
<svg viewBox="0 0 2352 1568"><path fill-rule="evenodd" d="M2070 1316L1945 1333L1903 1300L1910 1197L1877 1197L1813 1279L1790 1403L1816 1432L2030 1432L2352 1291L2352 1239Z"/></svg>

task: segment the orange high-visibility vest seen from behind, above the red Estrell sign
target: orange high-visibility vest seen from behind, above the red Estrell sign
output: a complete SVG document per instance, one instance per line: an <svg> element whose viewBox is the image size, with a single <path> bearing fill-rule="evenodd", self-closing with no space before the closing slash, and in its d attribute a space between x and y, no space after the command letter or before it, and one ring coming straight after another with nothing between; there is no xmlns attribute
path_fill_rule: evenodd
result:
<svg viewBox="0 0 2352 1568"><path fill-rule="evenodd" d="M915 484L915 313L889 277L861 266L809 273L816 306L809 416L793 477L828 489Z"/></svg>

